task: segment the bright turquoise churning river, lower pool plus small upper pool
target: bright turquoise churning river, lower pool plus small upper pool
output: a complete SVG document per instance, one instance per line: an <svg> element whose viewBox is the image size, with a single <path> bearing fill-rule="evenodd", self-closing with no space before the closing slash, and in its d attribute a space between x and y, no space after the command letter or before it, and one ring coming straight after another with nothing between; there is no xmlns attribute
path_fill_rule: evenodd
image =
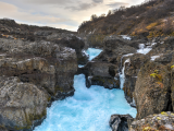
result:
<svg viewBox="0 0 174 131"><path fill-rule="evenodd" d="M100 52L92 48L87 50L90 60ZM137 114L127 104L122 90L107 90L98 85L87 88L84 74L74 76L74 96L54 102L35 131L111 131L111 115L129 114L135 117Z"/></svg>

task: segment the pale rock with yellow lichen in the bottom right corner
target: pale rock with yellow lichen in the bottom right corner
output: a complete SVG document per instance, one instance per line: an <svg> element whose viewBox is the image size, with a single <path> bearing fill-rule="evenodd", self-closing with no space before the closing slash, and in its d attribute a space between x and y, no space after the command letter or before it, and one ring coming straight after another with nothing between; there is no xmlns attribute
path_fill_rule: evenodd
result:
<svg viewBox="0 0 174 131"><path fill-rule="evenodd" d="M129 131L173 131L174 130L174 114L161 112L147 116L144 119L135 120L129 126Z"/></svg>

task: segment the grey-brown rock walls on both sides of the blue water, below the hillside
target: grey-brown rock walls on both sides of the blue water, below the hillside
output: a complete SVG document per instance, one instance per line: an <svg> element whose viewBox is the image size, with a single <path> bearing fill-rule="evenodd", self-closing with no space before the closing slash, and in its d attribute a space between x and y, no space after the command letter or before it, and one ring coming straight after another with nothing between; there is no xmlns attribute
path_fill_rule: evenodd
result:
<svg viewBox="0 0 174 131"><path fill-rule="evenodd" d="M84 41L75 33L18 25L11 20L1 20L0 27L0 129L32 130L46 117L52 100L74 94L74 74L84 73L88 87L122 88L137 108L136 119L112 117L114 130L117 123L126 128L128 123L133 131L173 130L173 37L103 35L97 39L90 35L83 36ZM87 47L103 51L88 62ZM169 112L161 116L162 111Z"/></svg>

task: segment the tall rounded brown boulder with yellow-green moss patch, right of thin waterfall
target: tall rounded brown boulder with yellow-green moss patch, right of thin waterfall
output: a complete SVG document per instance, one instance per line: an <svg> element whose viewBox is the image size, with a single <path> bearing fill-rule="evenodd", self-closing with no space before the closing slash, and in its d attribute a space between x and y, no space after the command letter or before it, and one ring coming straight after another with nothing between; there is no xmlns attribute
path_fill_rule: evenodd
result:
<svg viewBox="0 0 174 131"><path fill-rule="evenodd" d="M150 75L157 70L160 80ZM148 62L140 69L135 86L135 99L138 119L167 110L170 72L165 66Z"/></svg>

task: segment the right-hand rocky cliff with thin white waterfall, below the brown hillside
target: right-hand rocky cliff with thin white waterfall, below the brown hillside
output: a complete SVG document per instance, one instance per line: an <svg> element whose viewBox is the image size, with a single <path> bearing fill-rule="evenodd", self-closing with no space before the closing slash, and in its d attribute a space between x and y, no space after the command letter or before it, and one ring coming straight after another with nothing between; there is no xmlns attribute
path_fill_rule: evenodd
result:
<svg viewBox="0 0 174 131"><path fill-rule="evenodd" d="M105 37L102 41L103 51L78 72L86 74L88 86L123 87L127 102L137 108L136 120L142 121L149 115L173 111L173 39L127 40L113 35ZM170 118L166 119L170 121ZM160 127L165 124L160 123Z"/></svg>

